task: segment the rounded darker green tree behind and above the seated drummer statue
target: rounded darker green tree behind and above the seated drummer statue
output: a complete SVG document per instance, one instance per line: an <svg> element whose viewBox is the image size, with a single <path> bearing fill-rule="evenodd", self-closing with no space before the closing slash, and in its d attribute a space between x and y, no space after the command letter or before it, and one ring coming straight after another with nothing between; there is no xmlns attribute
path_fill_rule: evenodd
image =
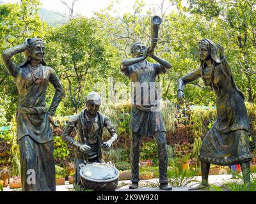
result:
<svg viewBox="0 0 256 204"><path fill-rule="evenodd" d="M108 58L111 56L97 34L95 21L79 17L54 29L47 37L58 45L57 50L52 50L61 53L60 62L55 66L61 69L60 78L68 90L67 106L76 111L84 106L84 94L93 89L99 78L105 78L110 69Z"/></svg>

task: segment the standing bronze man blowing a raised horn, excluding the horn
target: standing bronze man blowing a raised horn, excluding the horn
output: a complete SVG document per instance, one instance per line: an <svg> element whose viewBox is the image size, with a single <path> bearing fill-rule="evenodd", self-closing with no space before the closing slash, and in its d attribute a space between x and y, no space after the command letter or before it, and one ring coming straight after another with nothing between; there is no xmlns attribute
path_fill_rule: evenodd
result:
<svg viewBox="0 0 256 204"><path fill-rule="evenodd" d="M157 142L158 159L159 159L159 182L160 188L172 190L168 186L167 168L168 157L166 151L166 129L162 119L161 112L154 110L159 106L159 98L156 90L156 77L160 73L166 73L166 69L171 68L169 62L154 55L152 48L146 48L143 43L136 42L131 46L132 59L126 59L122 62L122 72L130 78L131 82L137 84L137 89L143 88L138 94L134 89L134 101L131 113L131 168L132 179L130 189L138 188L139 179L139 157L140 141L143 136L154 137ZM152 57L159 63L146 61L147 57ZM150 85L151 84L151 85ZM153 86L152 86L153 84ZM148 86L147 86L148 85ZM136 88L136 87L135 87ZM153 98L151 96L154 96ZM146 98L145 98L146 96ZM150 99L147 98L149 96Z"/></svg>

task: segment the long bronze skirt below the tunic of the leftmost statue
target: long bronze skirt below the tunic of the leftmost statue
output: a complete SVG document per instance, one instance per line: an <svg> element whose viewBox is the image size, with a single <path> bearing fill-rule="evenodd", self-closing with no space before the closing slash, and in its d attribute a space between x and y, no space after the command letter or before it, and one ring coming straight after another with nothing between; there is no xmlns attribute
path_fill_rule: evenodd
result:
<svg viewBox="0 0 256 204"><path fill-rule="evenodd" d="M26 135L19 150L22 191L56 191L53 142L38 143Z"/></svg>

